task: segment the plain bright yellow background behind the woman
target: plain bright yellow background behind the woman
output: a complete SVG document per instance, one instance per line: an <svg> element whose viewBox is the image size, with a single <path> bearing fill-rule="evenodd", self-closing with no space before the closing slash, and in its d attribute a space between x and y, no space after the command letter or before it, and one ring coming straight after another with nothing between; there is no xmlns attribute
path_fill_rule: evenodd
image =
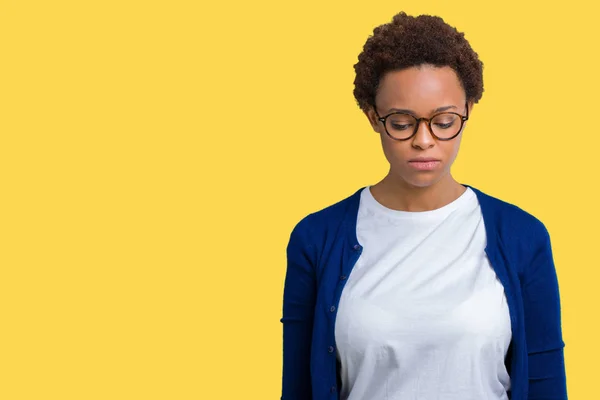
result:
<svg viewBox="0 0 600 400"><path fill-rule="evenodd" d="M353 64L401 10L483 60L453 173L550 230L595 398L598 6L489 3L1 1L0 398L279 398L289 233L387 171Z"/></svg>

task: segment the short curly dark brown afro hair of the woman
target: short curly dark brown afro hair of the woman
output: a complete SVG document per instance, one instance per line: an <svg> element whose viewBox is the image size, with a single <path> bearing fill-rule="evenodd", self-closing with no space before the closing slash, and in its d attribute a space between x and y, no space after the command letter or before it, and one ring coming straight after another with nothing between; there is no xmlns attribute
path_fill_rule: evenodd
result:
<svg viewBox="0 0 600 400"><path fill-rule="evenodd" d="M454 69L467 101L483 94L483 63L464 33L437 16L412 17L405 12L373 30L354 64L354 97L366 112L375 105L379 80L388 71L430 64Z"/></svg>

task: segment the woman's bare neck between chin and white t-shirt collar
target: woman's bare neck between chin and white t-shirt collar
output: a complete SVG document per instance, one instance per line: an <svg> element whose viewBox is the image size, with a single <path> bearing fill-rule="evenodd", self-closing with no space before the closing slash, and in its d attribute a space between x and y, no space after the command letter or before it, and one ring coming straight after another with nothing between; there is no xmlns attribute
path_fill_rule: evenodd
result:
<svg viewBox="0 0 600 400"><path fill-rule="evenodd" d="M382 205L399 211L431 211L456 200L466 188L448 174L438 182L414 186L388 174L371 186L371 194Z"/></svg>

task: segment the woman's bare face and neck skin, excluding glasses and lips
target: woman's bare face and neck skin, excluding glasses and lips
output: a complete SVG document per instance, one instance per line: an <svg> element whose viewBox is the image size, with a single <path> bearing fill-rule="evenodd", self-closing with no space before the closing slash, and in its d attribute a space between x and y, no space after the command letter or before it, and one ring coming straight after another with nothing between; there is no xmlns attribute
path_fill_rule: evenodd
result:
<svg viewBox="0 0 600 400"><path fill-rule="evenodd" d="M439 107L453 106L447 111L465 115L466 95L455 71L450 67L421 65L386 73L379 82L375 97L377 112L381 117L390 108L408 109L417 118L429 118ZM473 103L469 102L469 118ZM415 136L396 141L385 132L371 108L365 112L373 130L379 133L383 153L390 169L378 183L371 186L373 197L382 205L402 211L434 210L456 200L466 187L451 174L458 155L465 122L461 133L450 141L433 137L426 122L421 122ZM432 171L419 171L409 164L414 157L433 157L441 162Z"/></svg>

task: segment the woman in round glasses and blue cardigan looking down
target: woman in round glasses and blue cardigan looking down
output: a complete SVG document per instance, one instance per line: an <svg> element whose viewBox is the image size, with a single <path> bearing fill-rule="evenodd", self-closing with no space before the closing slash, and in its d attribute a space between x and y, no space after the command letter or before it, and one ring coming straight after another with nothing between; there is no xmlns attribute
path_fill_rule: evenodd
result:
<svg viewBox="0 0 600 400"><path fill-rule="evenodd" d="M567 399L548 231L450 173L477 54L441 18L399 13L355 71L390 168L291 233L282 399Z"/></svg>

